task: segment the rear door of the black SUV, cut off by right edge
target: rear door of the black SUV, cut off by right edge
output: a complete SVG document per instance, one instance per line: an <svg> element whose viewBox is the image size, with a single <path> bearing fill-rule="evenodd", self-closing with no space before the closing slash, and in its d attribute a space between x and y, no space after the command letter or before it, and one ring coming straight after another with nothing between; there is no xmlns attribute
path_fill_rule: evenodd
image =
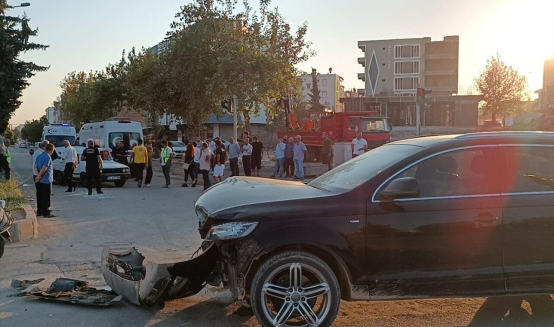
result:
<svg viewBox="0 0 554 327"><path fill-rule="evenodd" d="M504 269L509 294L554 292L554 144L505 146Z"/></svg>

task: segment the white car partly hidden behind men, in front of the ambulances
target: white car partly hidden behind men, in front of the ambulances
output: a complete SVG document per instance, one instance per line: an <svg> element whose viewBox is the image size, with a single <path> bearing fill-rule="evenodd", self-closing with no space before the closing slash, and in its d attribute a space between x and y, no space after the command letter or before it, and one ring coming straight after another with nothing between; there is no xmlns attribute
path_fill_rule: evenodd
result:
<svg viewBox="0 0 554 327"><path fill-rule="evenodd" d="M83 154L83 150L85 147L74 147L78 156L79 156L79 164L77 165L77 168L73 172L73 180L77 181L81 185L86 185L86 163L84 161L81 161L81 154ZM63 151L65 150L64 147L56 148L59 151L59 155L61 157L61 154L63 154ZM111 155L109 150L104 148L99 148L100 155L102 156L102 160L104 160L104 164L102 172L100 173L100 179L101 181L113 181L115 186L122 187L125 185L125 181L129 178L131 178L131 173L129 171L129 167L127 167L124 164L120 164L115 162ZM54 168L54 184L63 185L64 180L64 170L65 170L65 161L61 158L55 159L53 163Z"/></svg>

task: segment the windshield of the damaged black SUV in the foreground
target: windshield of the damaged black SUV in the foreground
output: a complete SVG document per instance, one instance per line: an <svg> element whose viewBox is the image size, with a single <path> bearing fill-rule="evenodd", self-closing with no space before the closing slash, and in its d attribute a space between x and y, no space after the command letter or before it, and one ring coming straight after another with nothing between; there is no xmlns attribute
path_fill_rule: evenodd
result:
<svg viewBox="0 0 554 327"><path fill-rule="evenodd" d="M420 147L407 144L381 146L341 164L307 185L351 190L375 177L383 169L420 150Z"/></svg>

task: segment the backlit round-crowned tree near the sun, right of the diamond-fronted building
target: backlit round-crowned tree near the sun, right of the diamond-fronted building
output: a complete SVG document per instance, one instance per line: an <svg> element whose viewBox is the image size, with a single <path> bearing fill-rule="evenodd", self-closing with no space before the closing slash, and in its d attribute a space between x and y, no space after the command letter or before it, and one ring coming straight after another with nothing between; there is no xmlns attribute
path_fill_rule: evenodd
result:
<svg viewBox="0 0 554 327"><path fill-rule="evenodd" d="M521 110L521 101L529 100L526 77L507 66L499 54L487 60L485 70L475 78L475 86L484 97L484 113L490 112L493 122L497 115L509 116Z"/></svg>

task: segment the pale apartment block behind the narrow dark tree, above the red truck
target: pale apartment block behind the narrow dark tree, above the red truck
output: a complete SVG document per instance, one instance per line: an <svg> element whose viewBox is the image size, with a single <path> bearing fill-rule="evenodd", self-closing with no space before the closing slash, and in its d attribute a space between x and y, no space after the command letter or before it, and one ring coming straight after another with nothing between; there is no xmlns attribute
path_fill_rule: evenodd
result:
<svg viewBox="0 0 554 327"><path fill-rule="evenodd" d="M313 84L311 75L301 75L297 77L302 84L302 95L304 100L310 101L310 94ZM342 112L343 106L340 98L345 96L345 87L342 85L342 77L337 74L317 74L317 87L320 91L320 103L325 107L335 111Z"/></svg>

